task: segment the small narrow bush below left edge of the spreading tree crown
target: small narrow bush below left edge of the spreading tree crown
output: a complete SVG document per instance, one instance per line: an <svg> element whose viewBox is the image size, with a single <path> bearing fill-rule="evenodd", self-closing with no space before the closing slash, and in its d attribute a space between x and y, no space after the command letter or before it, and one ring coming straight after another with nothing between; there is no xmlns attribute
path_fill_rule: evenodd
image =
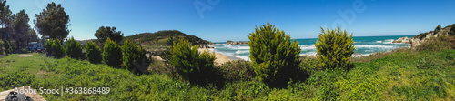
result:
<svg viewBox="0 0 455 101"><path fill-rule="evenodd" d="M86 58L88 59L88 61L90 61L90 63L94 64L101 63L101 61L103 60L101 54L102 54L101 50L95 43L93 43L92 41L88 41L86 43Z"/></svg>

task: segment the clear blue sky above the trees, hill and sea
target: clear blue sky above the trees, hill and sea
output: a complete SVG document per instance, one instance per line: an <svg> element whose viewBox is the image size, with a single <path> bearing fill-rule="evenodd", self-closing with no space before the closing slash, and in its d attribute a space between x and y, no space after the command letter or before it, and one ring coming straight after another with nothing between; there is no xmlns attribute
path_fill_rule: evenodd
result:
<svg viewBox="0 0 455 101"><path fill-rule="evenodd" d="M79 40L96 38L102 25L125 35L179 30L224 42L248 40L256 25L268 21L292 38L315 38L320 26L338 25L354 36L417 35L455 23L454 0L7 0L7 5L13 13L25 9L35 26L35 14L52 1L70 16L68 36Z"/></svg>

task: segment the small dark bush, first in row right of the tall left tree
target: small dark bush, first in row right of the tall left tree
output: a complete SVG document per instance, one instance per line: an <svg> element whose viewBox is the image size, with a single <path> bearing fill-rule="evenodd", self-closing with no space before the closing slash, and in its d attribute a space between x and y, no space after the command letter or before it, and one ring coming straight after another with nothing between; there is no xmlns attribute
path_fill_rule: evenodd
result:
<svg viewBox="0 0 455 101"><path fill-rule="evenodd" d="M75 59L83 57L82 46L75 40L74 37L71 37L71 39L66 41L66 55Z"/></svg>

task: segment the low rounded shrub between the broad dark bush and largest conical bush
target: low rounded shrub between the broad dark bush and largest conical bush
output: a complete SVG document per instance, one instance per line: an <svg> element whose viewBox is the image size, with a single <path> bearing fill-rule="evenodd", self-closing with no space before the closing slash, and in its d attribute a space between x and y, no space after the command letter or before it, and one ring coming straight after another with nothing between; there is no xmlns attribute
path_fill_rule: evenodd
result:
<svg viewBox="0 0 455 101"><path fill-rule="evenodd" d="M256 77L251 62L245 60L229 61L218 68L228 83L250 81Z"/></svg>

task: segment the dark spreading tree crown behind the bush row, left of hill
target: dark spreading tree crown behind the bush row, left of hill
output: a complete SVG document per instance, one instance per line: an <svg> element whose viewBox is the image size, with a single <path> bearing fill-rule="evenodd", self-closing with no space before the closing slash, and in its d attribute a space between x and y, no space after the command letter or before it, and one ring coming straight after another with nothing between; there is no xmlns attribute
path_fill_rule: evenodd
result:
<svg viewBox="0 0 455 101"><path fill-rule="evenodd" d="M110 38L112 41L120 43L123 39L122 31L116 31L116 27L113 26L101 26L96 30L95 36L98 38L98 42L105 43L107 38Z"/></svg>

